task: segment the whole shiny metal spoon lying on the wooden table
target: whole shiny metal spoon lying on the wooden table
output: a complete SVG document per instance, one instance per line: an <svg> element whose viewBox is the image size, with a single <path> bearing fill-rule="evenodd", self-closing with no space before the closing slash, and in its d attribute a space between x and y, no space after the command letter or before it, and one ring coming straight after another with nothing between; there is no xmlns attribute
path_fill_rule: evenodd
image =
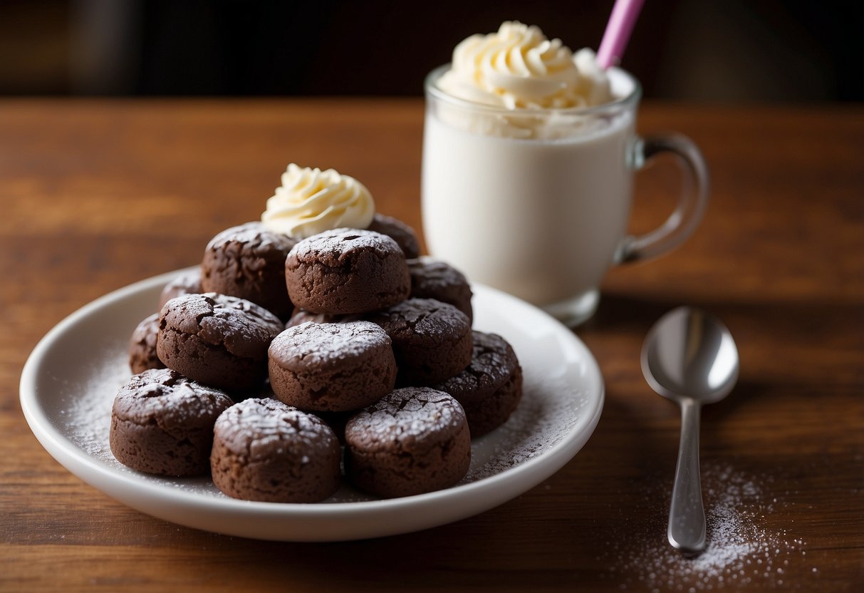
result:
<svg viewBox="0 0 864 593"><path fill-rule="evenodd" d="M705 509L699 478L699 410L732 391L738 349L729 330L690 307L654 324L642 347L642 373L651 388L681 406L681 444L669 509L669 543L689 555L705 549Z"/></svg>

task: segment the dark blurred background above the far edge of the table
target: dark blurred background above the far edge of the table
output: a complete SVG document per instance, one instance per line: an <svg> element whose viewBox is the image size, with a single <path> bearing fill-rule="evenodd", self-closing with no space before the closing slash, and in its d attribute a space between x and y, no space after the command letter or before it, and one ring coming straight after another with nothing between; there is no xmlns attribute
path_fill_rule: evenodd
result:
<svg viewBox="0 0 864 593"><path fill-rule="evenodd" d="M419 96L500 22L597 48L613 0L0 0L4 95ZM624 67L650 98L861 101L859 2L646 0Z"/></svg>

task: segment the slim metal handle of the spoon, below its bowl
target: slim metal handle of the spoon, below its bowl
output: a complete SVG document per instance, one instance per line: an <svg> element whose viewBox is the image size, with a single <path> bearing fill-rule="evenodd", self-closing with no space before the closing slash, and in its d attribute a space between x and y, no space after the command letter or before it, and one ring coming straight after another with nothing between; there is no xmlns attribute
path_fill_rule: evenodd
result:
<svg viewBox="0 0 864 593"><path fill-rule="evenodd" d="M675 486L669 509L669 543L686 554L705 549L705 509L699 478L698 402L681 402L681 444L675 469Z"/></svg>

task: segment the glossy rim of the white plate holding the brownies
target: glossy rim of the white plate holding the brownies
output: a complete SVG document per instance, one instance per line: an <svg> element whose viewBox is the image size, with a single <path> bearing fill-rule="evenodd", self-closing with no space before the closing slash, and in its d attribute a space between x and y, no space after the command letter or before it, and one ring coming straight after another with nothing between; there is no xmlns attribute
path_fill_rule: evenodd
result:
<svg viewBox="0 0 864 593"><path fill-rule="evenodd" d="M368 537L382 537L386 535L394 535L397 533L414 532L431 526L444 525L454 520L461 520L473 514L481 513L498 507L506 501L511 500L519 494L524 494L531 488L535 488L541 481L547 479L561 469L569 462L576 453L588 442L588 439L594 433L594 429L600 420L602 412L606 387L600 367L594 359L594 355L588 347L576 336L571 330L563 326L553 317L546 314L542 309L537 309L529 303L525 303L518 297L513 297L501 290L494 289L484 284L472 284L474 294L488 293L495 298L508 301L511 305L517 307L527 307L532 309L536 314L546 318L547 322L556 324L556 329L563 330L562 335L567 336L567 340L571 341L573 346L581 354L580 360L586 365L587 374L594 375L598 389L596 394L589 394L588 401L590 405L584 408L584 416L581 416L574 428L562 437L561 441L553 444L548 450L543 451L541 455L532 457L518 465L505 469L497 474L483 477L476 481L471 481L465 484L458 484L451 488L437 490L435 492L415 494L394 499L383 499L377 501L344 501L326 504L300 504L300 503L274 503L261 501L238 501L231 498L206 497L203 498L200 494L193 491L177 488L175 490L166 490L165 484L152 481L150 476L141 476L133 473L126 474L117 472L106 466L105 463L99 462L92 455L80 448L78 443L74 443L67 435L54 424L51 418L40 405L40 398L37 389L37 379L39 378L38 371L45 356L54 345L54 342L60 339L68 331L72 330L80 322L97 313L100 309L104 309L111 303L117 303L125 297L131 297L142 290L154 290L160 284L166 284L169 280L176 277L184 271L194 270L197 266L184 268L176 271L169 271L157 276L138 280L135 283L127 284L122 288L111 290L107 294L98 297L86 303L73 313L66 316L53 328L48 330L41 340L36 344L33 351L29 354L27 361L22 368L22 375L19 384L19 400L22 406L22 411L30 430L34 433L36 439L41 443L42 447L48 451L48 454L57 462L60 462L67 471L76 475L82 481L85 481L92 488L109 495L115 501L124 504L124 506L136 509L139 512L147 513L162 520L168 520L185 526L194 527L210 532L220 532L240 537L252 537L256 539L278 539L284 541L338 541L343 539L365 539ZM593 397L591 397L593 396ZM577 430L578 429L578 430ZM70 467L70 464L74 467ZM519 484L520 476L530 476L527 485ZM100 480L105 480L111 483L111 487L106 488L105 484ZM97 485L94 481L100 481ZM499 488L501 482L509 484L510 488ZM519 484L517 488L513 488L513 482ZM128 495L118 496L118 490L126 488L134 488L139 495L133 496L134 500L129 501ZM496 491L499 495L496 496ZM423 509L435 507L444 504L448 501L460 501L460 499L470 500L476 498L476 493L486 492L490 496L486 502L480 505L480 510L469 509L461 513L445 513L452 515L447 520L427 520L428 525L422 525L422 520L417 520L419 526L410 529L394 529L388 530L386 526L382 526L378 532L371 534L358 535L347 534L348 537L302 537L296 538L290 534L287 537L282 537L276 532L264 534L251 534L248 530L242 532L240 529L214 529L208 526L201 526L200 521L190 517L188 521L176 520L176 518L168 518L163 515L173 515L174 513L154 513L153 509L149 508L146 500L148 495L156 498L168 497L170 501L186 509L201 510L202 507L209 513L218 512L234 515L239 513L239 516L245 516L250 513L260 515L263 519L272 519L274 517L284 520L321 520L322 517L329 517L334 520L344 519L352 516L355 513L366 511L368 513L386 513L390 511L399 511L403 508L417 508L422 512ZM503 494L501 494L503 493ZM490 504L488 501L492 500ZM143 502L142 502L143 501ZM477 507L478 505L473 505ZM144 507L148 507L145 510ZM366 530L368 532L368 530Z"/></svg>

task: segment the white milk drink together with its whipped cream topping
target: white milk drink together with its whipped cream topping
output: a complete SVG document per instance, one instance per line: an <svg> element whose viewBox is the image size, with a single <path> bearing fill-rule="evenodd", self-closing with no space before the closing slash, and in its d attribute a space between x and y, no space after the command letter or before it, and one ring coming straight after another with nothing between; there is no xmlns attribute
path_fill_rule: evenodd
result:
<svg viewBox="0 0 864 593"><path fill-rule="evenodd" d="M539 305L595 291L626 236L638 85L536 27L473 35L427 80L429 252Z"/></svg>

